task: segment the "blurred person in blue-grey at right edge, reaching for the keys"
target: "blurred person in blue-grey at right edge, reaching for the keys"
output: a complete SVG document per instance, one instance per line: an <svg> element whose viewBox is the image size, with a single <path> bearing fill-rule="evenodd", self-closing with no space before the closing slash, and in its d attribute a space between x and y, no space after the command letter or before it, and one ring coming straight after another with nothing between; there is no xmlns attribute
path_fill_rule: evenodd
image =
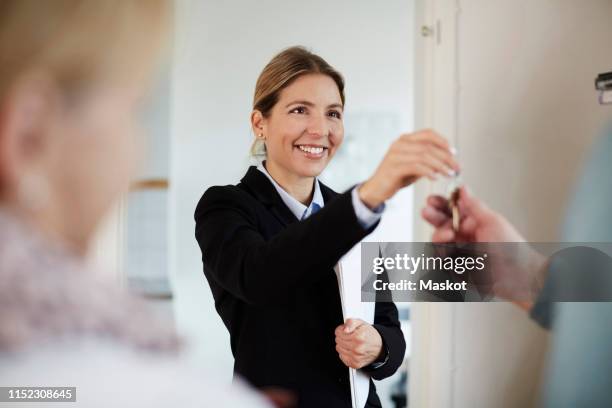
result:
<svg viewBox="0 0 612 408"><path fill-rule="evenodd" d="M595 144L563 226L561 242L584 244L563 250L550 260L535 251L525 252L525 258L532 260L524 263L529 267L515 265L506 270L508 280L531 279L536 283L536 296L518 305L554 333L542 401L546 407L612 405L612 303L597 301L612 299L612 267L609 256L588 246L612 242L611 157L612 128ZM455 232L446 199L428 198L422 215L435 227L434 243L525 242L505 217L468 189L461 189L458 204L461 223ZM563 262L556 262L559 259ZM496 295L517 298L513 293ZM572 296L582 301L556 301Z"/></svg>

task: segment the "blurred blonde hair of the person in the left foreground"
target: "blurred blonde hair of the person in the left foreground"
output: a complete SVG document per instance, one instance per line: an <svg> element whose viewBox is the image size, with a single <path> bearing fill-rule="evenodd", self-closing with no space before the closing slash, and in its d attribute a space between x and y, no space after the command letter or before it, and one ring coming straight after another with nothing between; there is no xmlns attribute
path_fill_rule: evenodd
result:
<svg viewBox="0 0 612 408"><path fill-rule="evenodd" d="M168 0L0 0L0 100L30 70L63 90L148 70L169 17Z"/></svg>

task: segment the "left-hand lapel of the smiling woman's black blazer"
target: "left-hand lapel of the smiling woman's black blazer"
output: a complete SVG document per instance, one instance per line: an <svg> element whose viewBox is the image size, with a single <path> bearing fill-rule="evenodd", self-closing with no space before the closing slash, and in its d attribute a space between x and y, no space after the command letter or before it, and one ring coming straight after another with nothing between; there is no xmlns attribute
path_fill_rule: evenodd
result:
<svg viewBox="0 0 612 408"><path fill-rule="evenodd" d="M285 205L270 180L257 167L250 166L240 182L257 198L283 225L297 222L298 219Z"/></svg>

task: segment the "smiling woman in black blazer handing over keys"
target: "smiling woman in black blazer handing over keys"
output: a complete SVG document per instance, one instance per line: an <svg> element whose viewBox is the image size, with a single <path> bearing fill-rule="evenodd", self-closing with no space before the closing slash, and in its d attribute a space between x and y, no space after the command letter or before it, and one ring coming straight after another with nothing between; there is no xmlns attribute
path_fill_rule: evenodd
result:
<svg viewBox="0 0 612 408"><path fill-rule="evenodd" d="M236 186L209 188L195 212L234 372L287 406L350 407L348 367L373 379L399 368L397 308L377 303L372 321L345 321L334 267L376 228L385 200L458 169L446 141L421 131L400 136L363 184L334 192L317 177L342 144L344 102L342 76L321 57L301 47L275 56L251 114L265 160ZM380 407L371 379L364 404Z"/></svg>

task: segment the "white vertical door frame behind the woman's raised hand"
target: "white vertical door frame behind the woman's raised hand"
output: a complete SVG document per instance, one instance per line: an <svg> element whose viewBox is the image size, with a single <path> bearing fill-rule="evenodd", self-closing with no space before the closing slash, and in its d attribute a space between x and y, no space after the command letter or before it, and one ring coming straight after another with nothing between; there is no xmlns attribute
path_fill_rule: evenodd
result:
<svg viewBox="0 0 612 408"><path fill-rule="evenodd" d="M415 1L415 127L435 129L457 146L459 0ZM420 209L432 192L429 181L415 185L415 241L431 239ZM409 406L452 407L455 308L452 303L412 303L411 316Z"/></svg>

